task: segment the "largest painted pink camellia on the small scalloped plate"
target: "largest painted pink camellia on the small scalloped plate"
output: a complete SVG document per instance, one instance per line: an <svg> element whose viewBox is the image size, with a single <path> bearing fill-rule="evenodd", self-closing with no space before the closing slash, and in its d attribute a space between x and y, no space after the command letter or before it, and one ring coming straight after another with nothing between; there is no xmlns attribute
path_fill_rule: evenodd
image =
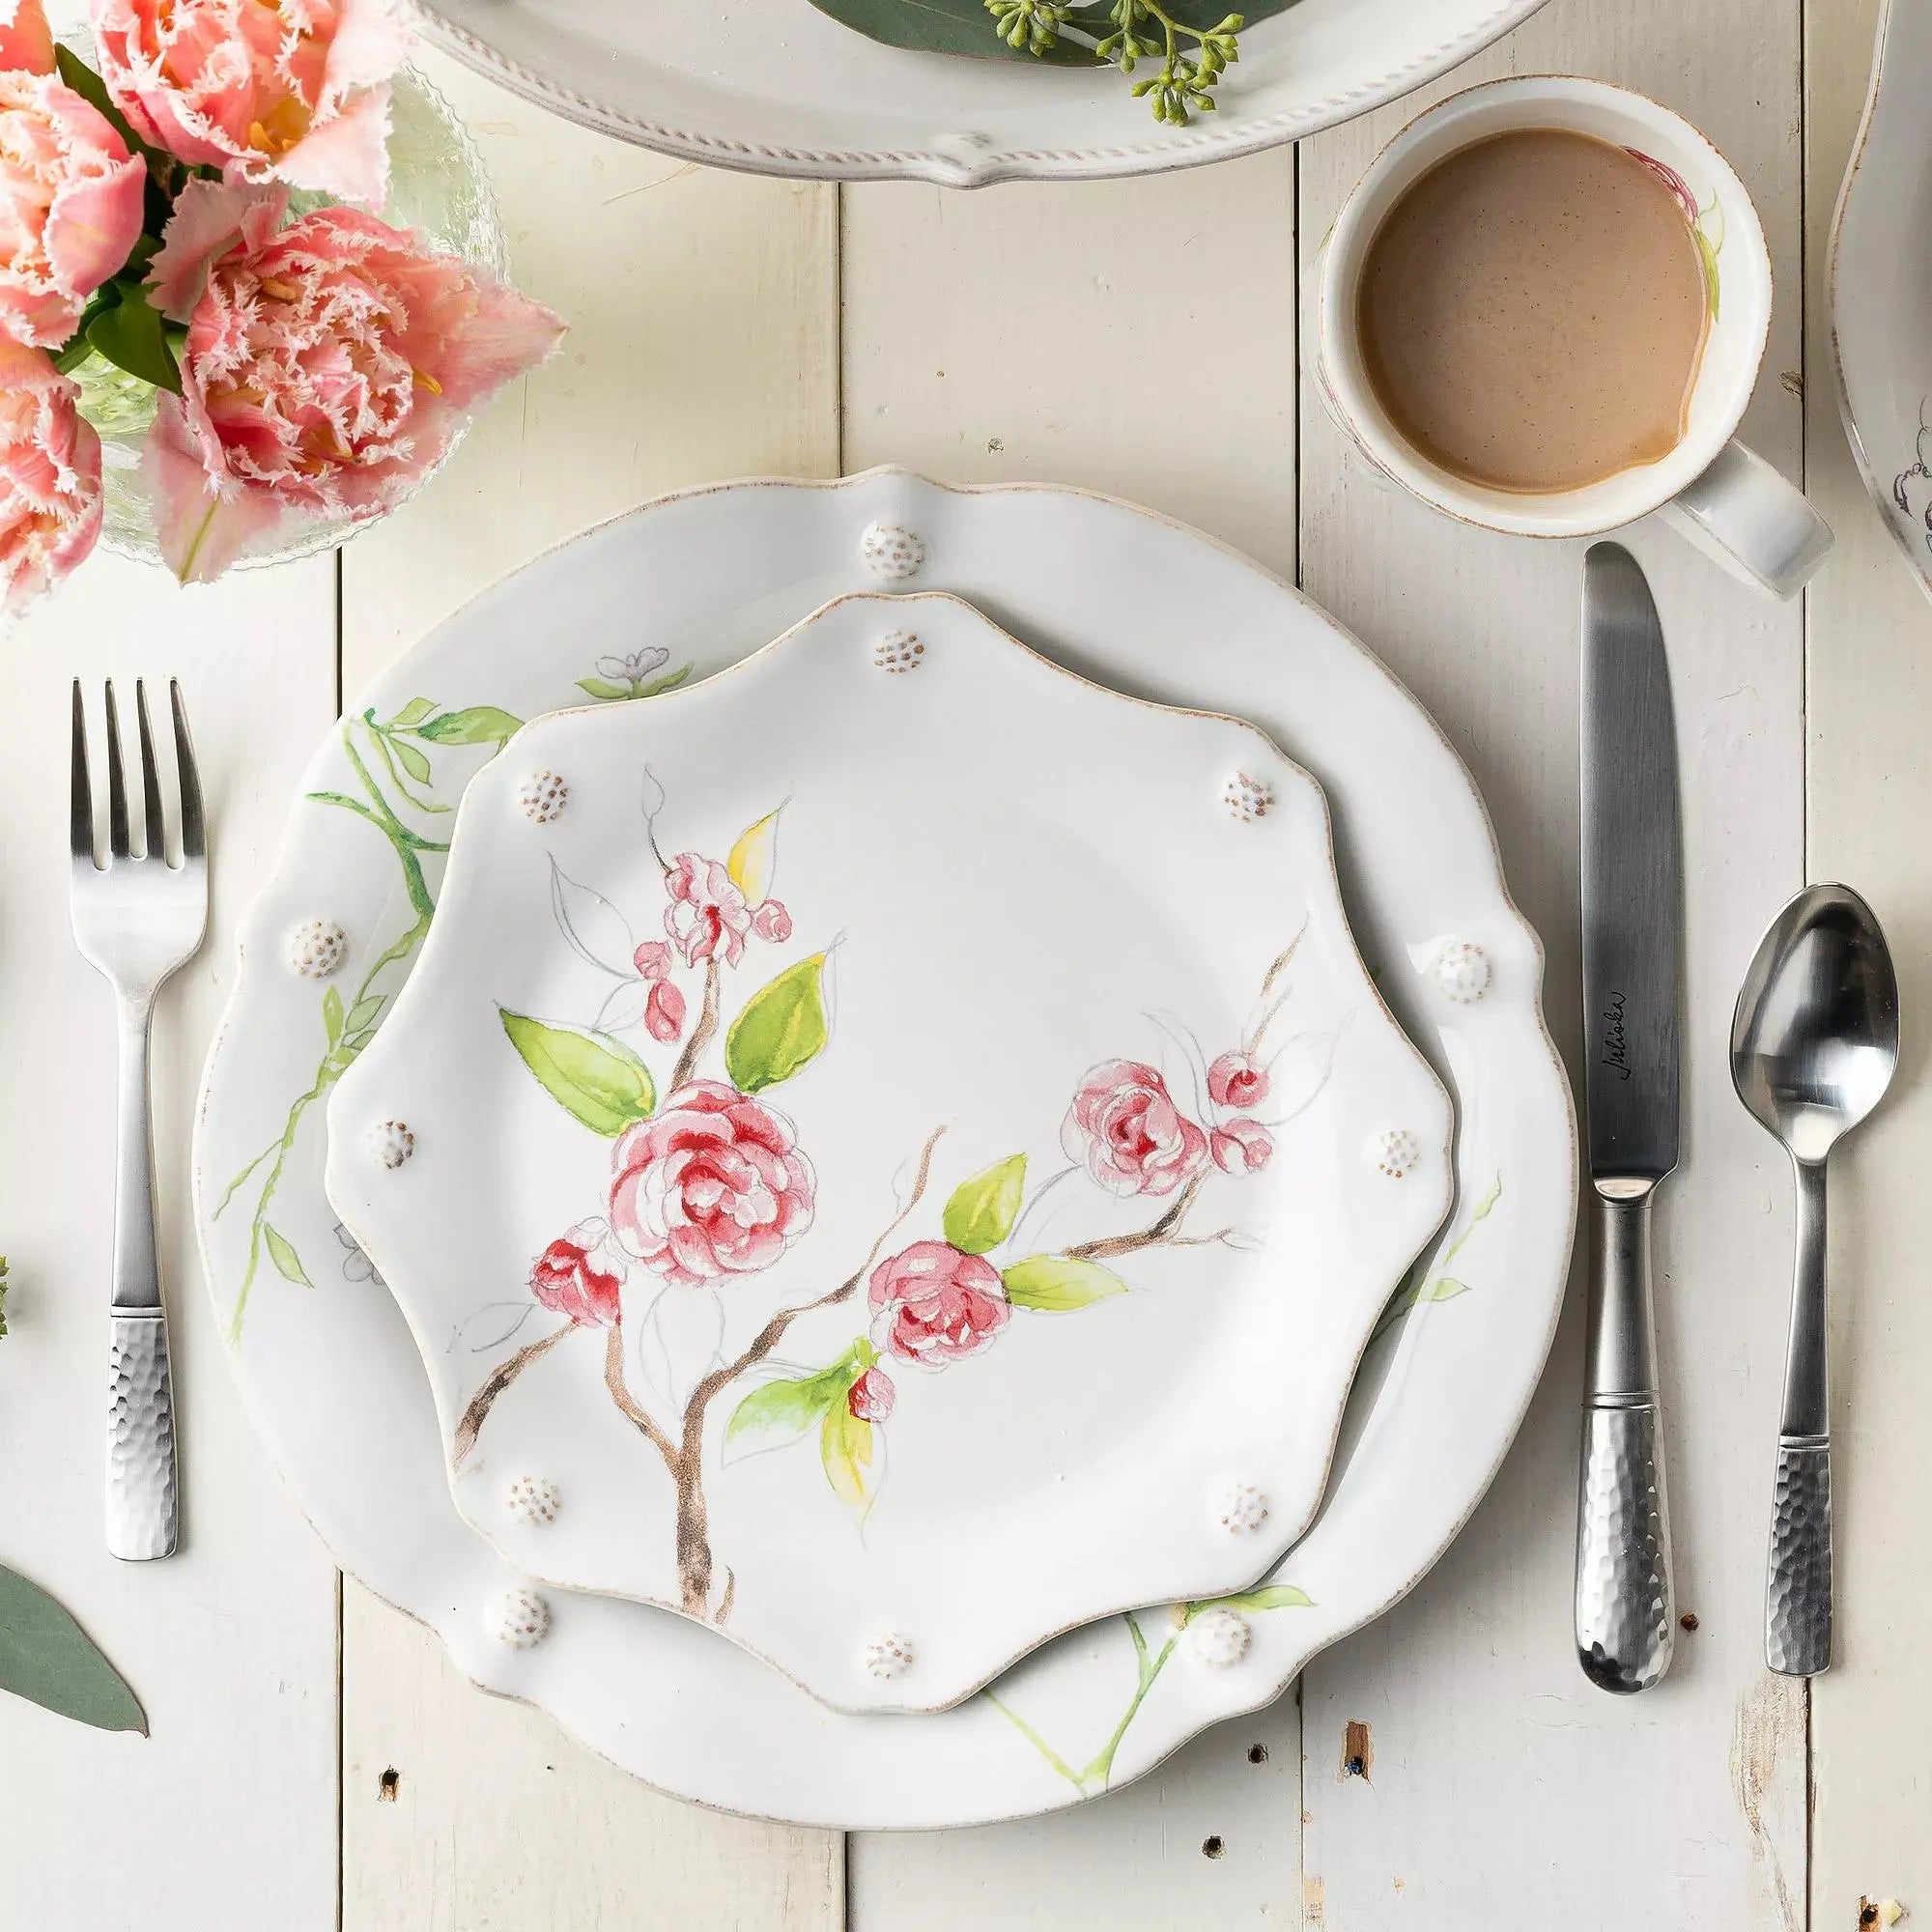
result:
<svg viewBox="0 0 1932 1932"><path fill-rule="evenodd" d="M692 1080L611 1153L611 1227L670 1287L771 1267L811 1227L817 1179L792 1122L723 1080Z"/></svg>

